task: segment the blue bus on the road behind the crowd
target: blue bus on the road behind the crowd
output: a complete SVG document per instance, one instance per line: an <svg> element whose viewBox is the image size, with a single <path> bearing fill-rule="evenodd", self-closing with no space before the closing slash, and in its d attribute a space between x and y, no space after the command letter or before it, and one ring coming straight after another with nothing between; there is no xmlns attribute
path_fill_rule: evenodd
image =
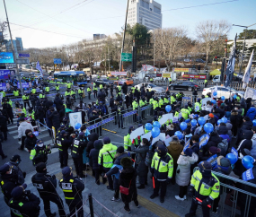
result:
<svg viewBox="0 0 256 217"><path fill-rule="evenodd" d="M76 82L79 86L87 85L86 74L83 71L55 72L54 80L58 82Z"/></svg>

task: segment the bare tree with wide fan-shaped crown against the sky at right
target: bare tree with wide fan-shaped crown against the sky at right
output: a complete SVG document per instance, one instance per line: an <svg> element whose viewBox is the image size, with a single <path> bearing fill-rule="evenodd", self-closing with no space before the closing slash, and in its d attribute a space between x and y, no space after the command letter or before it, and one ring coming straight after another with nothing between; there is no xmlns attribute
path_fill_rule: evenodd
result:
<svg viewBox="0 0 256 217"><path fill-rule="evenodd" d="M219 43L219 39L225 37L230 30L231 24L226 21L205 21L197 25L196 34L207 56L206 66L209 55Z"/></svg>

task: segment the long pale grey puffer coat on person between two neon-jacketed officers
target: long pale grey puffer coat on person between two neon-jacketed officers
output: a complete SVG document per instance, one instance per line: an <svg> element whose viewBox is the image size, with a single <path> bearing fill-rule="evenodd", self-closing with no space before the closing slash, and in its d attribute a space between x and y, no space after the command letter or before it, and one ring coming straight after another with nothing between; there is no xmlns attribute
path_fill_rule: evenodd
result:
<svg viewBox="0 0 256 217"><path fill-rule="evenodd" d="M176 170L176 183L185 187L190 184L190 166L195 162L199 161L199 156L196 153L192 153L192 156L180 155L177 163L178 168Z"/></svg>

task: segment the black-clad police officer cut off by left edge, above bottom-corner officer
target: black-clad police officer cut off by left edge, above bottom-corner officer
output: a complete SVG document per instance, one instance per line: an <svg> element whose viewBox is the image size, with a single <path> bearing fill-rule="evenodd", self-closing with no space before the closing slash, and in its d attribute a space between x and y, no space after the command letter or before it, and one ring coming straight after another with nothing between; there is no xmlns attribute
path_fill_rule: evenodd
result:
<svg viewBox="0 0 256 217"><path fill-rule="evenodd" d="M13 188L18 186L18 179L16 176L14 176L12 168L7 164L0 167L0 173L0 186L4 194L4 202L9 205L9 200L12 198L11 193ZM16 216L12 210L11 216Z"/></svg>

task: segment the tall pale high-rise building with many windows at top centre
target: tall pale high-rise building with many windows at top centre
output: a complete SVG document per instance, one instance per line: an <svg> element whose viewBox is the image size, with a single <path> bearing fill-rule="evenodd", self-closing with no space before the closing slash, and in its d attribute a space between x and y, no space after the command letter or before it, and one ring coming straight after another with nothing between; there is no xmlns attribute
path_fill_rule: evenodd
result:
<svg viewBox="0 0 256 217"><path fill-rule="evenodd" d="M129 0L128 24L145 25L148 30L162 28L162 6L154 0Z"/></svg>

